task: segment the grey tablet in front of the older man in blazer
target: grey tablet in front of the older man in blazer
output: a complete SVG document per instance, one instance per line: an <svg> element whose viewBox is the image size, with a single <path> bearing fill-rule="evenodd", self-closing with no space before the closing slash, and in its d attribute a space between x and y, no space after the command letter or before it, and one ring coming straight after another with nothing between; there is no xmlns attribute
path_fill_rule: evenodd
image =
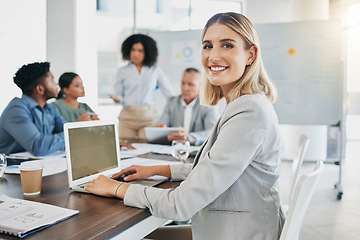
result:
<svg viewBox="0 0 360 240"><path fill-rule="evenodd" d="M170 145L171 142L167 140L167 136L172 132L178 132L181 129L178 127L146 127L144 128L144 130L146 142L153 144Z"/></svg>

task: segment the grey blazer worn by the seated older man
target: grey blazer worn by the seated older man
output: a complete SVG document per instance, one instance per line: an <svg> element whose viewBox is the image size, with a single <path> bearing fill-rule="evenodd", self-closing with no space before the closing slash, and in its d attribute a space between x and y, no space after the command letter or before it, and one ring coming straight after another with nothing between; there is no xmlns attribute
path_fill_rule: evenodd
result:
<svg viewBox="0 0 360 240"><path fill-rule="evenodd" d="M201 145L214 127L218 115L214 107L201 106L197 99L193 108L189 135L195 139L195 145ZM157 123L168 127L184 126L184 107L182 97L171 97Z"/></svg>

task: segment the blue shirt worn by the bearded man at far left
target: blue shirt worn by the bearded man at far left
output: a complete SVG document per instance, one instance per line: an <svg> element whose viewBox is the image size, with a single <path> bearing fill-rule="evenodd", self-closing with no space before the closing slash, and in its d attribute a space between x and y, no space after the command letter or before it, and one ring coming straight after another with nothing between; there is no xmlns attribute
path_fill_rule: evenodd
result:
<svg viewBox="0 0 360 240"><path fill-rule="evenodd" d="M44 156L64 149L64 123L53 105L41 108L27 95L15 97L0 117L0 152Z"/></svg>

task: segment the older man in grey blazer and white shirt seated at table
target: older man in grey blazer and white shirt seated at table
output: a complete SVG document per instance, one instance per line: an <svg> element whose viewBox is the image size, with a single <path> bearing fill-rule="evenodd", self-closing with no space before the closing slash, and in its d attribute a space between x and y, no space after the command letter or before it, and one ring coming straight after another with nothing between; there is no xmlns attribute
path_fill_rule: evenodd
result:
<svg viewBox="0 0 360 240"><path fill-rule="evenodd" d="M168 140L189 140L193 145L201 145L216 120L214 107L201 106L199 92L201 74L196 68L185 69L181 79L181 95L169 98L156 127L181 127L180 132L168 135Z"/></svg>

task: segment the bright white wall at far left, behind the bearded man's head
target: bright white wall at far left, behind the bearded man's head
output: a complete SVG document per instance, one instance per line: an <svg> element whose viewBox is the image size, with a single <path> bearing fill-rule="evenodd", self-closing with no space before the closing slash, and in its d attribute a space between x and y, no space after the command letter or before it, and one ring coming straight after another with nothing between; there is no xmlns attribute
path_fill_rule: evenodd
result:
<svg viewBox="0 0 360 240"><path fill-rule="evenodd" d="M21 90L13 82L26 63L46 61L46 0L0 0L0 113Z"/></svg>

